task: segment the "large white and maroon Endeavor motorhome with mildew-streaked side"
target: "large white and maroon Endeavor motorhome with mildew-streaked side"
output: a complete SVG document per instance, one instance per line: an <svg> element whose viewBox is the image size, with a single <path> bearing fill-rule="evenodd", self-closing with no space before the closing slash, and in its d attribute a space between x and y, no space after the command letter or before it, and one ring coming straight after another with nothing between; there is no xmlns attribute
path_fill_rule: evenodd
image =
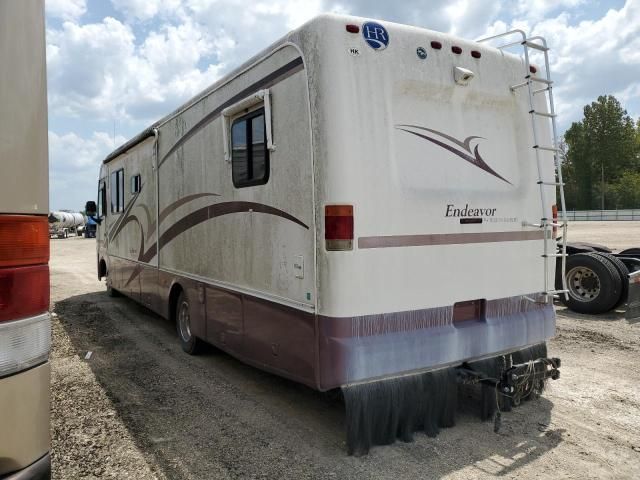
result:
<svg viewBox="0 0 640 480"><path fill-rule="evenodd" d="M534 70L315 18L105 158L98 275L185 351L321 391L543 345L558 172Z"/></svg>

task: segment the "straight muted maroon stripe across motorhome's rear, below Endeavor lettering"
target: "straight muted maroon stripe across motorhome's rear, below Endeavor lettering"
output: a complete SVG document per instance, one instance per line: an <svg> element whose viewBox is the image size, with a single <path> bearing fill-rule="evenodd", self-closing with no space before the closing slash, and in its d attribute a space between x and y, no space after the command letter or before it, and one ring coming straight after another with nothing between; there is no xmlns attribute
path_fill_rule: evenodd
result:
<svg viewBox="0 0 640 480"><path fill-rule="evenodd" d="M431 245L461 245L466 243L519 242L543 240L542 230L524 232L432 233L426 235L389 235L359 237L358 248L424 247Z"/></svg>

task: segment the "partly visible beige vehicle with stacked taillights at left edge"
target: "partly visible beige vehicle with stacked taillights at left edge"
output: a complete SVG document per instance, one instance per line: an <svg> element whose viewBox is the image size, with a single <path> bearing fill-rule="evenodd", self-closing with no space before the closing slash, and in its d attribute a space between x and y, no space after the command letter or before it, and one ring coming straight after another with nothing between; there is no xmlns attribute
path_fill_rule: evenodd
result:
<svg viewBox="0 0 640 480"><path fill-rule="evenodd" d="M49 213L43 0L0 0L0 478L49 458Z"/></svg>

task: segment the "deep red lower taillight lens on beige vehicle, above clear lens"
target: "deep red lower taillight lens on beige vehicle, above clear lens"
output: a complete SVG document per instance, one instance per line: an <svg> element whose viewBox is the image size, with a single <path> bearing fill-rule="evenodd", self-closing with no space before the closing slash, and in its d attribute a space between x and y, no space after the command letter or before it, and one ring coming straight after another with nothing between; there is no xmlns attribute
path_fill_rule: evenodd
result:
<svg viewBox="0 0 640 480"><path fill-rule="evenodd" d="M49 310L49 266L0 269L0 322Z"/></svg>

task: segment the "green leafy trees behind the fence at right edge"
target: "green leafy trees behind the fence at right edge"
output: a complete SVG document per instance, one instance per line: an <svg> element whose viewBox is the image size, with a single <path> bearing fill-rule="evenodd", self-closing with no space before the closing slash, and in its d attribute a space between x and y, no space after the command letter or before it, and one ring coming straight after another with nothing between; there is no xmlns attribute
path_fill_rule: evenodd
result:
<svg viewBox="0 0 640 480"><path fill-rule="evenodd" d="M560 142L567 210L640 208L640 119L612 95L584 107Z"/></svg>

